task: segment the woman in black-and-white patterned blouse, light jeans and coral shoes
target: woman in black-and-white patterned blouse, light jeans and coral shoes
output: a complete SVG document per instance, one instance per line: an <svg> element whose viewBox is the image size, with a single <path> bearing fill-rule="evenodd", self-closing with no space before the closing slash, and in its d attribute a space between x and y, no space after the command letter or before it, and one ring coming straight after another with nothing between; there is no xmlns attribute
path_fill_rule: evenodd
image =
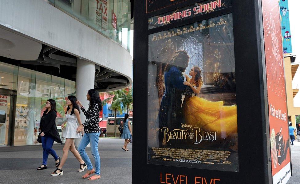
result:
<svg viewBox="0 0 300 184"><path fill-rule="evenodd" d="M79 145L78 152L81 158L85 161L88 166L88 171L82 178L88 178L89 175L95 173L93 176L89 177L89 180L99 179L100 177L100 156L98 152L98 141L100 136L99 128L99 113L102 109L101 99L99 92L95 89L90 89L88 94L86 94L86 100L89 100L89 109L86 111L79 100L76 103L81 108L82 112L86 117L85 123L77 128L77 132L82 132L84 129L85 134L83 135ZM85 147L91 144L91 152L95 159L95 169L89 159L89 156L85 152Z"/></svg>

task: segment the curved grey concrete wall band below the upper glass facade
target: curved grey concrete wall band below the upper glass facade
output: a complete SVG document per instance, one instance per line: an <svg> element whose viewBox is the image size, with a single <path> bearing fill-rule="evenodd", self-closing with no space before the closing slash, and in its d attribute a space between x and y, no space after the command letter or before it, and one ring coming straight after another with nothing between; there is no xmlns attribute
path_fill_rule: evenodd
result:
<svg viewBox="0 0 300 184"><path fill-rule="evenodd" d="M0 27L109 68L132 83L132 57L125 48L47 1L0 1Z"/></svg>

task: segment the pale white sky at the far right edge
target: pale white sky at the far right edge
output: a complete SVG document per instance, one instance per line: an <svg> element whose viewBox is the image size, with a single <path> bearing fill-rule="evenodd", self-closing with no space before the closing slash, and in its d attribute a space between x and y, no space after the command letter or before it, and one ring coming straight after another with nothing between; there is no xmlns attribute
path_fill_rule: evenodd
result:
<svg viewBox="0 0 300 184"><path fill-rule="evenodd" d="M296 63L300 63L300 0L289 1L289 14L290 14L290 34L292 41L292 55L296 55ZM300 67L298 68L294 79L292 81L293 89L300 88ZM294 107L300 107L300 92L294 97ZM300 114L300 112L299 112Z"/></svg>

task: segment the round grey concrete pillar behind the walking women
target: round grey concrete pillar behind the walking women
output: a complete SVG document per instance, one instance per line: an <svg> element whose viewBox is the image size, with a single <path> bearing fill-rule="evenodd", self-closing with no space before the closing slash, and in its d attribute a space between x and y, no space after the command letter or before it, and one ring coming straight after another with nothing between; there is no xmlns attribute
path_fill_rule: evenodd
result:
<svg viewBox="0 0 300 184"><path fill-rule="evenodd" d="M84 59L77 58L77 73L76 73L76 97L81 101L82 105L87 110L89 101L86 100L86 94L89 89L94 89L95 84L95 64ZM80 113L81 122L85 122L85 115ZM75 139L75 146L78 146L81 138ZM89 145L88 145L89 146Z"/></svg>

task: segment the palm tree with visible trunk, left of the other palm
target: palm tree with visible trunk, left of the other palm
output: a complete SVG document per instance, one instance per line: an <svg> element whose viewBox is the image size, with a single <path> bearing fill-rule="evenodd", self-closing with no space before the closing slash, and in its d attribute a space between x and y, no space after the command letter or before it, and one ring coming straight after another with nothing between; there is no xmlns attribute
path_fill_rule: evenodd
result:
<svg viewBox="0 0 300 184"><path fill-rule="evenodd" d="M116 112L124 109L124 105L122 105L122 101L124 99L124 93L121 90L112 91L107 93L109 98L106 98L102 101L102 105L107 104L107 102L111 101L112 105L110 106L115 111L115 131L114 136L116 137Z"/></svg>

